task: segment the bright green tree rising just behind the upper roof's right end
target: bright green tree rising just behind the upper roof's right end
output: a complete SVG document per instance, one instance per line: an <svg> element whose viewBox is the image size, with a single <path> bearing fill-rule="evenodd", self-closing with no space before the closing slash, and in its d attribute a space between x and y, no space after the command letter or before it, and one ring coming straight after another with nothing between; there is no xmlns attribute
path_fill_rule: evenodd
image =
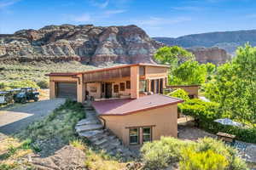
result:
<svg viewBox="0 0 256 170"><path fill-rule="evenodd" d="M154 59L160 64L176 67L188 59L195 59L194 54L178 46L159 48L154 54Z"/></svg>

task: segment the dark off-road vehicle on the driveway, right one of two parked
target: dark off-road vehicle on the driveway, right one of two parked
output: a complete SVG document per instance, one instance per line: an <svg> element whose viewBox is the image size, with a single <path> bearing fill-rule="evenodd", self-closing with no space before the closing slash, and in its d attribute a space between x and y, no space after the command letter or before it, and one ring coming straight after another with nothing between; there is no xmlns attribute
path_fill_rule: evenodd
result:
<svg viewBox="0 0 256 170"><path fill-rule="evenodd" d="M20 93L14 94L14 100L16 103L26 103L29 100L38 101L39 92L36 88L20 88Z"/></svg>

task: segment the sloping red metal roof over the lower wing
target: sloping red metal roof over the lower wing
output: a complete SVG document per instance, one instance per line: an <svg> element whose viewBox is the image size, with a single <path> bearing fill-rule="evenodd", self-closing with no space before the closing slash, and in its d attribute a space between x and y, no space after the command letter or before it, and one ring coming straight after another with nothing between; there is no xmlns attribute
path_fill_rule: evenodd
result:
<svg viewBox="0 0 256 170"><path fill-rule="evenodd" d="M154 94L138 99L108 99L92 102L96 112L102 116L122 116L137 111L146 111L166 105L182 103L182 99L172 98L165 95Z"/></svg>

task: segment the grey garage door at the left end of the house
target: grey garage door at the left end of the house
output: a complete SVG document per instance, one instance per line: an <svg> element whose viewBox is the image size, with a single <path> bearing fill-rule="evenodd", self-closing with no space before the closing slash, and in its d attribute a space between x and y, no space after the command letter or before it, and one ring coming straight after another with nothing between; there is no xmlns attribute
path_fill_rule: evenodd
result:
<svg viewBox="0 0 256 170"><path fill-rule="evenodd" d="M76 82L57 82L56 88L57 98L77 99Z"/></svg>

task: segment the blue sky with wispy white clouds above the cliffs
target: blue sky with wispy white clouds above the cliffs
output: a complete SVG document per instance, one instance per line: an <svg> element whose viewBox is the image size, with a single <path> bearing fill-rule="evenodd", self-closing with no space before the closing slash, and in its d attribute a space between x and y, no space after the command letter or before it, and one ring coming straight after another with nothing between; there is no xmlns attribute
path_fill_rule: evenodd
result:
<svg viewBox="0 0 256 170"><path fill-rule="evenodd" d="M142 27L151 37L256 29L255 0L0 0L0 33L48 25Z"/></svg>

